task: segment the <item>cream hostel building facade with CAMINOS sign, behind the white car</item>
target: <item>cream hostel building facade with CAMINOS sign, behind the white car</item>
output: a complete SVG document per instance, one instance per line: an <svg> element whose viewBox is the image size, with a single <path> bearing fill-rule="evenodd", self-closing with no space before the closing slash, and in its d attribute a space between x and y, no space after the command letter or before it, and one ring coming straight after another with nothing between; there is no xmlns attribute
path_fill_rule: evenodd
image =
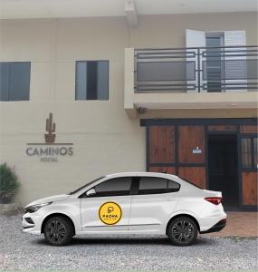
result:
<svg viewBox="0 0 258 272"><path fill-rule="evenodd" d="M236 202L239 206L255 207L257 194L254 194L254 190L257 190L257 181L253 177L257 175L254 169L257 159L254 158L256 140L253 139L257 135L257 87L246 88L250 79L241 78L240 85L244 86L242 90L226 92L227 89L222 88L222 80L224 83L234 83L234 80L222 78L218 87L208 85L206 78L207 88L212 88L209 89L212 92L200 92L196 87L197 77L191 78L187 68L182 68L182 59L174 59L173 61L179 62L178 69L176 66L171 74L183 69L185 77L180 79L184 82L183 85L178 87L173 83L171 87L171 81L177 82L180 77L178 75L175 79L172 75L171 81L167 78L160 79L170 84L165 91L163 83L158 83L155 90L148 89L151 82L149 79L146 80L148 83L146 82L144 90L138 89L141 84L137 78L139 69L143 69L143 77L147 73L148 78L148 73L151 73L149 78L155 78L157 67L149 66L147 70L139 67L136 54L139 50L139 53L152 53L151 57L153 53L158 53L160 57L160 52L140 50L206 47L207 44L202 43L210 42L208 34L205 42L197 37L204 33L223 34L224 39L230 33L235 34L230 40L233 44L229 43L228 46L239 45L238 50L245 45L255 46L256 12L251 7L251 10L243 12L229 10L226 13L206 13L200 7L199 13L186 10L188 14L148 14L147 10L145 15L140 15L137 12L138 4L140 5L140 1L135 1L134 6L129 2L125 10L122 5L121 12L124 15L110 13L81 17L79 14L77 17L72 10L69 17L59 15L58 18L49 18L48 15L38 15L37 18L30 15L11 16L8 6L4 6L5 13L0 21L0 159L1 162L6 161L14 166L22 184L16 201L25 204L33 199L72 190L107 173L130 170L173 172L187 179L193 177L192 180L196 183L204 175L205 180L201 181L201 186L213 189L208 181L212 178L206 168L207 137L203 148L202 142L193 142L189 147L191 154L205 154L203 160L196 160L195 157L192 161L181 161L178 155L178 131L181 129L179 126L183 126L178 121L187 121L185 125L191 125L193 121L192 125L196 127L203 125L202 121L205 121L205 131L211 129L208 126L214 125L218 128L221 126L219 131L223 131L223 135L235 135L239 143L236 147L238 149L241 149L240 137L246 132L244 129L247 126L246 135L252 138L253 146L249 156L253 159L252 166L246 168L246 173L252 177L244 181L244 168L240 170L239 166L240 160L241 165L244 164L244 159L240 158L244 150L237 150L239 171L234 182L237 184L239 199ZM195 30L198 34L193 38L189 34L187 36L186 30ZM239 34L244 35L242 39ZM244 59L248 58L246 48ZM251 49L257 55L257 47ZM171 57L169 54L171 52L168 51L168 59ZM141 56L146 57L144 54ZM189 56L191 55L183 56L185 63L191 62L187 59ZM252 59L257 61L255 55ZM165 69L162 58L160 60L161 69ZM235 60L243 60L243 55L238 55ZM201 63L202 61L200 60ZM250 63L255 66L253 62ZM172 65L175 68L175 63ZM174 69L173 67L170 68ZM162 74L170 68L163 70ZM196 64L194 69L196 73ZM194 90L191 89L194 92L189 91L189 80L195 85ZM254 85L251 85L257 86L257 77L252 80ZM199 83L204 83L204 79L201 81L202 79ZM168 121L163 123L166 133L169 134L170 126L173 127L173 135L169 135L173 138L177 134L170 153L167 153L169 143L164 145L164 141L167 142L166 139L170 136L166 134L168 138L165 139L160 131L161 136L156 136L160 138L157 140L160 144L159 147L154 147L153 152L156 155L161 152L161 157L170 156L166 160L149 159L149 144L156 144L149 141L149 126L158 127L155 120ZM198 128L196 130L192 132L197 134ZM176 156L179 157L176 159ZM185 167L188 167L189 172L183 169ZM199 169L191 171L191 168Z"/></svg>

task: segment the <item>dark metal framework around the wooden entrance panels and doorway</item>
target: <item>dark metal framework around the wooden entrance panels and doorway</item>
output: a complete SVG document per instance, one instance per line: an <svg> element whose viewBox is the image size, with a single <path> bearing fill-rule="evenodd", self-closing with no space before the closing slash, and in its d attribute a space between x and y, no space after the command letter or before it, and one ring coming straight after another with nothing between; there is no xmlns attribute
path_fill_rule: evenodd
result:
<svg viewBox="0 0 258 272"><path fill-rule="evenodd" d="M178 126L196 126L203 125L205 128L205 163L178 163ZM237 141L237 168L238 168L238 193L239 193L239 209L257 210L256 205L244 205L243 203L243 179L242 179L242 161L241 161L241 139L243 137L257 137L257 133L244 133L241 131L241 126L257 126L257 118L194 118L194 119L141 119L140 126L146 127L146 170L150 167L175 167L175 174L178 175L178 168L180 166L205 167L205 186L208 188L208 163L207 163L207 136L208 134L235 134ZM149 127L151 126L174 126L175 127L175 162L174 163L150 163L149 162ZM209 126L228 126L227 131L208 131ZM230 129L234 126L234 130Z"/></svg>

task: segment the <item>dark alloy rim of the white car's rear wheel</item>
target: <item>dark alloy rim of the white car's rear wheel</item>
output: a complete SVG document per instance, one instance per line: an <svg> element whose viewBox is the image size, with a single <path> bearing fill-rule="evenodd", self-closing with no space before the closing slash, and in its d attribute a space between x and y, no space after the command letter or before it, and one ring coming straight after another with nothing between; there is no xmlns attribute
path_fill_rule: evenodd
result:
<svg viewBox="0 0 258 272"><path fill-rule="evenodd" d="M172 227L172 236L179 243L189 242L194 234L194 226L186 220L180 220Z"/></svg>

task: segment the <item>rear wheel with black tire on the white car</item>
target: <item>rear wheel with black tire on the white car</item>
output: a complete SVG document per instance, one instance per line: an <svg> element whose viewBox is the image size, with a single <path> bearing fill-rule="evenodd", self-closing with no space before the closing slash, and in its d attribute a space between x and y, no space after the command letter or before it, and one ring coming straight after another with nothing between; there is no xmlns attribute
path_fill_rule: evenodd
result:
<svg viewBox="0 0 258 272"><path fill-rule="evenodd" d="M167 236L176 246L185 247L193 244L197 235L196 222L188 217L173 219L167 226Z"/></svg>

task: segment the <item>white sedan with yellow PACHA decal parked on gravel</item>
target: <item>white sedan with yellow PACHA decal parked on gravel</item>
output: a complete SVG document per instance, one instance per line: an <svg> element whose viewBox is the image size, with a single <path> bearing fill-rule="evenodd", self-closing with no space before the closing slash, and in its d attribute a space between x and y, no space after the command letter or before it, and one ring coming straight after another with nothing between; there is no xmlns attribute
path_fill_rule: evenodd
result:
<svg viewBox="0 0 258 272"><path fill-rule="evenodd" d="M24 232L44 234L63 246L85 234L167 235L187 246L197 234L225 227L221 192L200 189L181 178L151 172L100 177L69 194L33 201L25 207Z"/></svg>

